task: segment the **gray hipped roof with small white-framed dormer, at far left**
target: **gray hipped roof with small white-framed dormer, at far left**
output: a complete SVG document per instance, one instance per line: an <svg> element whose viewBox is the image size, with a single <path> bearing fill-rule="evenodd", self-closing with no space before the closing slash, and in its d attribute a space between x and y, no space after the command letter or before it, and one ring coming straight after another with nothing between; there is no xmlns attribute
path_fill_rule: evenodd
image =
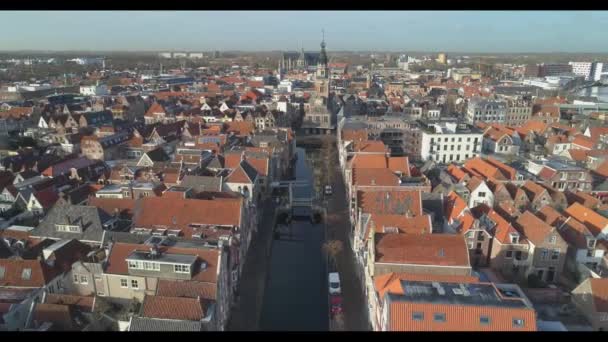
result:
<svg viewBox="0 0 608 342"><path fill-rule="evenodd" d="M69 218L69 220L68 220ZM88 205L57 204L51 208L32 236L53 239L77 239L102 242L103 223L112 217L103 210ZM82 233L58 232L55 224L79 224Z"/></svg>

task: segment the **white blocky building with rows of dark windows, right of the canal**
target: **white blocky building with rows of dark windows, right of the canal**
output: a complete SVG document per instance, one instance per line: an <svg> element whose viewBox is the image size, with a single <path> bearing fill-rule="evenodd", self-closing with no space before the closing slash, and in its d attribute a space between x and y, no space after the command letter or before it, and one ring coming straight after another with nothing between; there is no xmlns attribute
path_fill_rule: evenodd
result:
<svg viewBox="0 0 608 342"><path fill-rule="evenodd" d="M422 127L420 156L441 163L465 161L479 155L483 132L456 122L431 123Z"/></svg>

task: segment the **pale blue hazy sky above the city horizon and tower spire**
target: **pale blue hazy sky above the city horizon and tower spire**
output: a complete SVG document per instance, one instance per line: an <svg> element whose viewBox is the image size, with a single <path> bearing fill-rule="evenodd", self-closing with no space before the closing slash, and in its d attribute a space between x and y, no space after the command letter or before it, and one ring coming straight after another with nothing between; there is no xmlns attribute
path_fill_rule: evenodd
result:
<svg viewBox="0 0 608 342"><path fill-rule="evenodd" d="M0 50L608 52L608 11L2 11Z"/></svg>

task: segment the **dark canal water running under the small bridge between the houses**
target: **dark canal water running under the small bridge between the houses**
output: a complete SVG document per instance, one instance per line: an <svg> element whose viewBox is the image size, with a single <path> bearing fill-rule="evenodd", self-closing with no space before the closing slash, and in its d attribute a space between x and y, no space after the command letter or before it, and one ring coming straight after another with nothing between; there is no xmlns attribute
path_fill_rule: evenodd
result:
<svg viewBox="0 0 608 342"><path fill-rule="evenodd" d="M297 149L296 180L308 182L294 189L294 197L310 197L313 173L306 152ZM290 229L272 243L270 269L264 291L261 330L327 331L327 274L322 254L323 224L294 219Z"/></svg>

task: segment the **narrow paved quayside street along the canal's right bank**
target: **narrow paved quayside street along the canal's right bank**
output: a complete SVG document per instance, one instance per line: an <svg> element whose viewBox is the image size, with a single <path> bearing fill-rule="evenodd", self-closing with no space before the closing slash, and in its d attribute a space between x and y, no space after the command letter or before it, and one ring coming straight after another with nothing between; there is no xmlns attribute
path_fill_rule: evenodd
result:
<svg viewBox="0 0 608 342"><path fill-rule="evenodd" d="M335 158L335 165L339 165L337 152L332 158ZM344 250L338 255L336 262L342 287L345 328L349 331L365 331L369 330L367 308L361 282L357 280L355 256L350 247L346 189L339 167L336 167L334 172L333 195L328 201L327 239L340 240L344 245Z"/></svg>

